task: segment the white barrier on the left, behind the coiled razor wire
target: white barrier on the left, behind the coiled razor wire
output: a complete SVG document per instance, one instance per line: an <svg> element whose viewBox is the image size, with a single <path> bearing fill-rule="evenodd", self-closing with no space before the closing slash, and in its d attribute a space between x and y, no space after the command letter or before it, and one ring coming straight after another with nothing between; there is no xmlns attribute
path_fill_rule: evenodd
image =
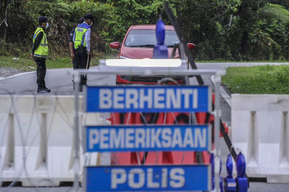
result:
<svg viewBox="0 0 289 192"><path fill-rule="evenodd" d="M79 98L83 108L83 97ZM73 182L74 96L0 96L0 184L59 186ZM83 153L84 125L99 125L99 113L80 121L80 171L96 165L97 153ZM97 160L98 159L98 160Z"/></svg>

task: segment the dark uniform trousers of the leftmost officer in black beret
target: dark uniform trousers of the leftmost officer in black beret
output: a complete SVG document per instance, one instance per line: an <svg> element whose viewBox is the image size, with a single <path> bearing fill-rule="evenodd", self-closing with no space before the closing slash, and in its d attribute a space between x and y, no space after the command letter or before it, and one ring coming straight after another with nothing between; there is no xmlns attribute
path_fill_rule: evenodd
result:
<svg viewBox="0 0 289 192"><path fill-rule="evenodd" d="M36 62L37 69L36 69L36 76L37 76L37 86L38 88L45 87L45 74L46 74L46 58L44 57L34 57L34 61Z"/></svg>

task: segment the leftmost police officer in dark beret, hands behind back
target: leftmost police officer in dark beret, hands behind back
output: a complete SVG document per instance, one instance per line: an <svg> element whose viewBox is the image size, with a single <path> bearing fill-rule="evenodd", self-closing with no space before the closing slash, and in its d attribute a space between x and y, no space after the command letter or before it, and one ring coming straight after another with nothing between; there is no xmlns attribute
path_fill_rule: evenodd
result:
<svg viewBox="0 0 289 192"><path fill-rule="evenodd" d="M45 16L38 17L39 27L34 32L33 46L31 50L30 58L34 58L37 69L37 93L49 93L51 90L45 86L45 74L46 74L46 58L48 56L48 42L45 34L45 29L48 28L48 18Z"/></svg>

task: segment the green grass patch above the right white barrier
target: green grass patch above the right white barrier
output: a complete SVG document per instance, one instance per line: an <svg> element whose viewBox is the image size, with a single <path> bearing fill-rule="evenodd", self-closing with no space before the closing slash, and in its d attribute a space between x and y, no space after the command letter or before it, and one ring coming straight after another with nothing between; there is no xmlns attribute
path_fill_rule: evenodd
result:
<svg viewBox="0 0 289 192"><path fill-rule="evenodd" d="M289 67L287 65L260 65L229 67L222 83L231 93L289 94Z"/></svg>

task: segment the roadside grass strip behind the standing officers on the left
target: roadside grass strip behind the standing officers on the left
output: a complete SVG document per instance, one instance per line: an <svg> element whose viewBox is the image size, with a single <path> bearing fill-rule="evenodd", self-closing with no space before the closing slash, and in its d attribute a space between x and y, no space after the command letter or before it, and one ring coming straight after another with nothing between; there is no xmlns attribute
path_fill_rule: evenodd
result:
<svg viewBox="0 0 289 192"><path fill-rule="evenodd" d="M22 71L36 71L36 63L34 59L29 59L30 55L26 58L20 57L19 60L12 59L12 57L0 56L0 67L20 69ZM90 66L96 66L99 64L99 59L115 59L116 55L95 55L95 58L91 59ZM48 57L46 59L47 69L61 69L72 68L72 59L70 57Z"/></svg>

